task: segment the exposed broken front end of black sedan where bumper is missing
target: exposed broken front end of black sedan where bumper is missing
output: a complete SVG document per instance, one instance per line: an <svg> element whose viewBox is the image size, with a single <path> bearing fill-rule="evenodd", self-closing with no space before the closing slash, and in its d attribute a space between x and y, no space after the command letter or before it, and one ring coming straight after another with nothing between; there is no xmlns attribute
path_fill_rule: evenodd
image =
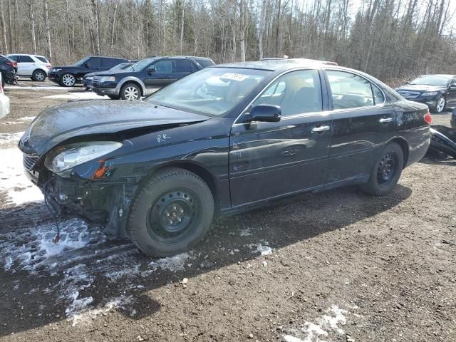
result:
<svg viewBox="0 0 456 342"><path fill-rule="evenodd" d="M62 177L47 170L43 160L30 165L31 157L24 155L26 175L43 192L48 209L59 217L77 215L104 226L105 234L125 238L126 220L131 199L140 182L138 177L110 180L109 162L100 160L99 167L89 179L70 172Z"/></svg>

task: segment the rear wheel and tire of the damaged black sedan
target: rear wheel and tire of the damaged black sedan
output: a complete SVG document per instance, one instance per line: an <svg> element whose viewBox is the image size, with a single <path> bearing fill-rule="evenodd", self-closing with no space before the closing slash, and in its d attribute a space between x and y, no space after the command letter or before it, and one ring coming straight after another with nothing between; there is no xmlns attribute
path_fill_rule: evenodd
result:
<svg viewBox="0 0 456 342"><path fill-rule="evenodd" d="M390 142L383 147L373 164L371 175L361 188L375 196L389 195L398 184L404 166L404 152L397 142Z"/></svg>

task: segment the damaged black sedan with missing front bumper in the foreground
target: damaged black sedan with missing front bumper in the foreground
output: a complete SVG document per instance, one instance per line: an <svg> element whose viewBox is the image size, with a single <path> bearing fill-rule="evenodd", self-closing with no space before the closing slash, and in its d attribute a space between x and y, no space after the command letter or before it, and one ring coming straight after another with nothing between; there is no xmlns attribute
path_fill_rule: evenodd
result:
<svg viewBox="0 0 456 342"><path fill-rule="evenodd" d="M189 249L214 217L301 192L388 195L430 144L427 105L323 63L214 66L145 101L48 108L19 142L57 212L147 254Z"/></svg>

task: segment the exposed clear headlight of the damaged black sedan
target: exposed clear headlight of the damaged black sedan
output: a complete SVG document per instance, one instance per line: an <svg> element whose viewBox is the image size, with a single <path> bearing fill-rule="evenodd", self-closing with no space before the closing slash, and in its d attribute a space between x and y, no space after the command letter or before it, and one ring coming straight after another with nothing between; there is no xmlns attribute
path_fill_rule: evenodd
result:
<svg viewBox="0 0 456 342"><path fill-rule="evenodd" d="M71 169L84 162L107 155L122 146L116 141L79 142L59 146L51 150L44 160L44 165L56 174Z"/></svg>

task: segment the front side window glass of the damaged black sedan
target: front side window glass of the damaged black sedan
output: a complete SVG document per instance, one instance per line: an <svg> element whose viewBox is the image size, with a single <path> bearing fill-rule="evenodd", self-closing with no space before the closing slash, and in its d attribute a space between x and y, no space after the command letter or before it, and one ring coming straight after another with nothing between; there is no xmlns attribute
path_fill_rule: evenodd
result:
<svg viewBox="0 0 456 342"><path fill-rule="evenodd" d="M320 76L316 70L286 73L276 79L253 105L279 105L282 115L321 112Z"/></svg>

